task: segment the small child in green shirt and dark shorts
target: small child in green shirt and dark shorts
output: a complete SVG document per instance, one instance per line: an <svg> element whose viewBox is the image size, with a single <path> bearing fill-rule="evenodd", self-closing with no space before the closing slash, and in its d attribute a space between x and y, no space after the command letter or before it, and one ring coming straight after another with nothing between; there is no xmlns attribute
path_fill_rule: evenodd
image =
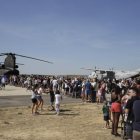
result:
<svg viewBox="0 0 140 140"><path fill-rule="evenodd" d="M104 129L109 129L109 111L107 107L107 101L104 101L104 105L102 106L104 121L106 121L106 126L103 127Z"/></svg>

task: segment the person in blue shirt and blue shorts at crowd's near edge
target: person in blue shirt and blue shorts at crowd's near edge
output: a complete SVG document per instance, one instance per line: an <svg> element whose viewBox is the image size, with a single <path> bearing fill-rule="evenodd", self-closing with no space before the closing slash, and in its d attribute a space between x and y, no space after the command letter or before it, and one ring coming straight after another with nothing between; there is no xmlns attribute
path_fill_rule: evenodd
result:
<svg viewBox="0 0 140 140"><path fill-rule="evenodd" d="M85 83L85 103L87 101L90 102L90 87L91 87L91 83L89 82L89 79L87 79L87 82Z"/></svg>

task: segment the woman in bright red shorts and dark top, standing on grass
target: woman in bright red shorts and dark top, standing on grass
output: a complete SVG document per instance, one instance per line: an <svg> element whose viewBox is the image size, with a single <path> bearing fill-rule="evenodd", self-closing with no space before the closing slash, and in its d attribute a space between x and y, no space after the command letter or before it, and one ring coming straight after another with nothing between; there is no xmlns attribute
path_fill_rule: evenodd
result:
<svg viewBox="0 0 140 140"><path fill-rule="evenodd" d="M111 94L111 112L113 116L113 121L112 121L112 132L111 134L114 135L115 137L120 136L117 133L118 129L118 122L119 122L119 117L121 113L121 96L120 96L120 88L119 86L113 84L112 85L113 91Z"/></svg>

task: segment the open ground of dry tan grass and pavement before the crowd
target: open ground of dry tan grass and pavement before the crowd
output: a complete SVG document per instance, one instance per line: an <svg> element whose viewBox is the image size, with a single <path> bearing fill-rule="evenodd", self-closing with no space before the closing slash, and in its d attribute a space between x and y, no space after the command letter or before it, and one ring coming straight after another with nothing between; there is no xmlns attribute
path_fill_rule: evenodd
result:
<svg viewBox="0 0 140 140"><path fill-rule="evenodd" d="M0 91L0 102L5 100L3 105L0 103L0 140L121 140L110 134L111 129L102 128L105 125L102 105L64 98L60 116L56 116L55 111L50 111L50 105L44 105L44 111L39 111L40 115L31 116L30 99L23 102L31 93L17 87L6 88L5 91ZM43 98L49 104L49 95L44 95ZM20 101L15 102L16 99ZM120 131L119 128L118 132Z"/></svg>

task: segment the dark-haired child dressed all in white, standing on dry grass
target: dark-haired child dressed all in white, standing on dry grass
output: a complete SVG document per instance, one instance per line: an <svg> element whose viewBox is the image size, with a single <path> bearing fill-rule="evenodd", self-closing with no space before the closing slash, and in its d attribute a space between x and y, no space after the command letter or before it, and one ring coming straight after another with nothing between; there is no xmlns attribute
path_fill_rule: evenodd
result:
<svg viewBox="0 0 140 140"><path fill-rule="evenodd" d="M56 94L55 94L55 109L56 109L56 115L59 115L59 107L60 107L60 103L62 100L62 95L60 94L59 90L56 90Z"/></svg>

